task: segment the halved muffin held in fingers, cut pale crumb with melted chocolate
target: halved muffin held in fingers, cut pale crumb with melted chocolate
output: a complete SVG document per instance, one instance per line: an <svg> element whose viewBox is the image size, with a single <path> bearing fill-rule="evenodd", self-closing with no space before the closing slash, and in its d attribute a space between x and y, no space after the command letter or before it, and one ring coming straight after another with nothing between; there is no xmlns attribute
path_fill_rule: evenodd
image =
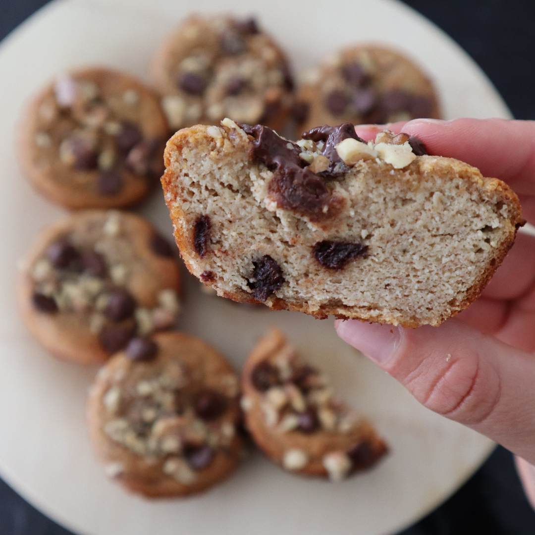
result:
<svg viewBox="0 0 535 535"><path fill-rule="evenodd" d="M225 119L167 142L162 177L190 272L236 301L439 325L476 299L523 224L500 180L407 134L319 127L294 143Z"/></svg>

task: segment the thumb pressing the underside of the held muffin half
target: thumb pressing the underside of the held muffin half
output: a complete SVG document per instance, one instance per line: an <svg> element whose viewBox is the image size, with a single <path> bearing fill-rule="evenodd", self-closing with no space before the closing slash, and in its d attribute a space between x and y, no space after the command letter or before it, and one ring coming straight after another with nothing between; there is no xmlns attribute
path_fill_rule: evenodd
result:
<svg viewBox="0 0 535 535"><path fill-rule="evenodd" d="M337 320L340 338L428 409L535 464L535 357L460 320L439 327Z"/></svg>

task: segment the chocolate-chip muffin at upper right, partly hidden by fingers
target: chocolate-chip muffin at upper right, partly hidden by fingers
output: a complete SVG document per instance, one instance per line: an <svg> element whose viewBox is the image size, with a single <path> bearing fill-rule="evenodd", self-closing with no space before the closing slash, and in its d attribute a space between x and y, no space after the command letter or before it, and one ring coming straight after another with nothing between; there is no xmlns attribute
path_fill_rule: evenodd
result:
<svg viewBox="0 0 535 535"><path fill-rule="evenodd" d="M409 58L375 44L340 51L307 75L292 110L299 134L349 121L385 124L440 119L437 93Z"/></svg>

